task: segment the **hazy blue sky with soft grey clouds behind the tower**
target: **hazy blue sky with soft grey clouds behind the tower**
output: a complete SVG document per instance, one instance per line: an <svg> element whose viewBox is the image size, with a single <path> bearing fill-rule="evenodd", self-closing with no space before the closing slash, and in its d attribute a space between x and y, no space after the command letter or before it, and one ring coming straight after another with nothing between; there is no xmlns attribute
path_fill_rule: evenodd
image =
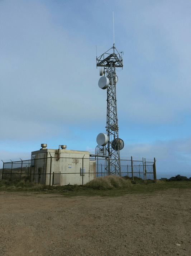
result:
<svg viewBox="0 0 191 256"><path fill-rule="evenodd" d="M191 176L190 0L1 0L0 159L41 143L94 153L106 126L96 46L113 46L113 10L120 156Z"/></svg>

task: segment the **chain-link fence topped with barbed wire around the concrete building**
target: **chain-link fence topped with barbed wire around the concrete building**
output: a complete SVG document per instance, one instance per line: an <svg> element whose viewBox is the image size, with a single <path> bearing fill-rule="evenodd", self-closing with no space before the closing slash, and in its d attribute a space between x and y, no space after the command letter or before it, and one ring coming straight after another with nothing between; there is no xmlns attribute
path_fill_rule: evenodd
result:
<svg viewBox="0 0 191 256"><path fill-rule="evenodd" d="M156 180L155 158L121 159L121 177L130 179ZM1 179L9 181L29 180L31 183L44 185L84 185L90 180L109 175L106 158L90 156L90 158L44 157L30 160L3 163Z"/></svg>

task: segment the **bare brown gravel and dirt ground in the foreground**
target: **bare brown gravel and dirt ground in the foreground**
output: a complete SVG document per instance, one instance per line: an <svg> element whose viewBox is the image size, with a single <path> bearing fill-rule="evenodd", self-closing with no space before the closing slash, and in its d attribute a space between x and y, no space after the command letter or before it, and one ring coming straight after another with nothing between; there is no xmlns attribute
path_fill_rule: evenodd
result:
<svg viewBox="0 0 191 256"><path fill-rule="evenodd" d="M123 197L0 192L0 256L191 256L191 189Z"/></svg>

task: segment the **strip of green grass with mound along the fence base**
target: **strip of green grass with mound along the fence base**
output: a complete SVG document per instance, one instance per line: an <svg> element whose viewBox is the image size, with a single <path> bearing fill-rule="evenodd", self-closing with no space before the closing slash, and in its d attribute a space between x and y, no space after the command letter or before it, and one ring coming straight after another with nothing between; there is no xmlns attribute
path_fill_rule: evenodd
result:
<svg viewBox="0 0 191 256"><path fill-rule="evenodd" d="M11 182L0 180L0 191L8 192L35 192L37 194L60 194L65 197L73 196L124 196L125 194L152 193L166 189L187 189L191 188L191 181L170 181L147 180L147 184L138 177L134 177L134 182L128 176L119 177L115 175L95 178L85 185L65 185L65 186L46 186L42 184L31 184L28 180Z"/></svg>

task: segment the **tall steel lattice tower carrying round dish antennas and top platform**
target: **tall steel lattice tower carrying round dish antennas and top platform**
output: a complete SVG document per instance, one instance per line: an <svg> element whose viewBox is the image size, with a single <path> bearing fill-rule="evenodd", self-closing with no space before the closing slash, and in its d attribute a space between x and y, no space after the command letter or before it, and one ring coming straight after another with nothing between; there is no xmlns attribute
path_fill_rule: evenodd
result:
<svg viewBox="0 0 191 256"><path fill-rule="evenodd" d="M97 60L97 67L100 67L100 75L104 74L99 80L101 89L107 88L107 118L106 118L106 135L108 136L106 147L106 172L108 175L115 174L121 176L120 154L119 151L124 147L123 140L119 139L118 134L118 117L116 104L116 67L123 68L123 60L114 44L113 47L102 54ZM104 69L102 69L104 67ZM106 82L105 82L106 81ZM98 135L99 136L99 135ZM97 137L98 138L98 137ZM103 148L104 149L104 148Z"/></svg>

